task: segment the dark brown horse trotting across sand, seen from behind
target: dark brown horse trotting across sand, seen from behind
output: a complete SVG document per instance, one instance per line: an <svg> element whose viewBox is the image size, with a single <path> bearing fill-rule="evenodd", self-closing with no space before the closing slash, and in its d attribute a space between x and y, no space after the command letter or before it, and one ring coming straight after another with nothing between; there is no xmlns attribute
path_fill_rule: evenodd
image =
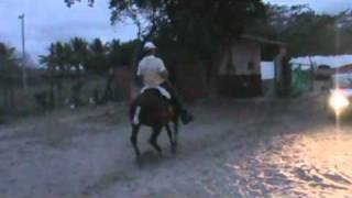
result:
<svg viewBox="0 0 352 198"><path fill-rule="evenodd" d="M138 146L138 134L141 125L152 128L150 144L162 155L162 148L157 144L157 138L163 128L166 129L172 152L176 152L178 142L179 111L172 107L170 101L157 89L146 89L132 100L130 105L130 121L132 124L131 143L133 145L136 160L141 156ZM174 123L172 131L169 123Z"/></svg>

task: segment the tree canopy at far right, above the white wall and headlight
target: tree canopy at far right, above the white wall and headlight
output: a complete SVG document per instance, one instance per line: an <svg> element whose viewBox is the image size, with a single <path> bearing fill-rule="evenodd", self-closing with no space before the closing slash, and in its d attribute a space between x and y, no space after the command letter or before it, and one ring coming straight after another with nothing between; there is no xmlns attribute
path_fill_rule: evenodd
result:
<svg viewBox="0 0 352 198"><path fill-rule="evenodd" d="M255 31L280 40L294 56L352 52L351 12L317 13L308 6L267 6L267 21Z"/></svg>

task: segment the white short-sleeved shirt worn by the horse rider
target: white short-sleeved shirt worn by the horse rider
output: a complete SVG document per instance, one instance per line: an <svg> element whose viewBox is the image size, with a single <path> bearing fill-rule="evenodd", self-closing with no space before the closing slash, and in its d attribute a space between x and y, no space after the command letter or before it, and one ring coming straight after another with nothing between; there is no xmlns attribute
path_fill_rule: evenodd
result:
<svg viewBox="0 0 352 198"><path fill-rule="evenodd" d="M164 62L161 58L148 55L140 62L136 75L143 77L145 86L157 87L165 80L160 75L160 73L165 70Z"/></svg>

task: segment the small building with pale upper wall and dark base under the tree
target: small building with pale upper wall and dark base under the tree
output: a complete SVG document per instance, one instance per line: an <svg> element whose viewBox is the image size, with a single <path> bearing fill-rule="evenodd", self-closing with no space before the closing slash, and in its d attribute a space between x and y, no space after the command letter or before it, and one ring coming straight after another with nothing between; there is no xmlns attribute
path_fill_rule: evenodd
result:
<svg viewBox="0 0 352 198"><path fill-rule="evenodd" d="M271 46L274 59L284 43L260 36L242 35L223 52L217 76L217 91L224 97L257 97L262 95L261 62L263 47Z"/></svg>

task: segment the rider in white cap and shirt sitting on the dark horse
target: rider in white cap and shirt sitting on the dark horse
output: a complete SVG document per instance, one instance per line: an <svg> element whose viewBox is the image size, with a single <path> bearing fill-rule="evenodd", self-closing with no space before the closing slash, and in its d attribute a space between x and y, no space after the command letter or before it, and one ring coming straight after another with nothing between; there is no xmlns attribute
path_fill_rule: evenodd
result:
<svg viewBox="0 0 352 198"><path fill-rule="evenodd" d="M184 109L175 88L168 81L168 72L165 68L164 62L155 57L155 50L156 46L152 42L145 43L144 51L146 55L140 62L136 72L136 75L143 78L144 88L141 92L147 88L158 89L163 96L169 99L172 106L179 110L183 123L187 124L194 118Z"/></svg>

